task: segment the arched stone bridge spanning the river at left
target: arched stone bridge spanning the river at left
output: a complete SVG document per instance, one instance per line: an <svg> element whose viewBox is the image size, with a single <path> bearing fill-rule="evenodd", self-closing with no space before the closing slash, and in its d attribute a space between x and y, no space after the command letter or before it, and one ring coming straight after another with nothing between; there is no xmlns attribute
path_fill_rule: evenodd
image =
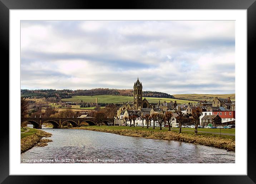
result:
<svg viewBox="0 0 256 184"><path fill-rule="evenodd" d="M33 124L33 128L42 128L43 123L53 124L53 128L62 128L65 124L70 123L72 127L79 127L82 123L86 122L89 125L96 125L95 118L84 117L84 118L21 118L21 123L30 122ZM114 122L114 118L105 118L103 123Z"/></svg>

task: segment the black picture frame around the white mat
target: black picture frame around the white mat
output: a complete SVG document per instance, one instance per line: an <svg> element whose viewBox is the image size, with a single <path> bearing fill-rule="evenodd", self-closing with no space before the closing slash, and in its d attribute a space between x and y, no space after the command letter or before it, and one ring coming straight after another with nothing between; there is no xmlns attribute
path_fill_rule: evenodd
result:
<svg viewBox="0 0 256 184"><path fill-rule="evenodd" d="M9 61L9 10L11 9L246 9L247 10L247 68L248 61L256 61L256 0L129 0L129 1L80 1L80 0L0 0L0 46L2 58ZM4 57L3 57L4 56ZM9 66L8 66L9 68ZM248 90L248 89L247 89ZM248 93L249 95L249 93ZM246 112L247 113L247 112ZM10 112L9 112L10 116ZM9 122L11 123L11 122ZM247 122L245 122L247 123ZM253 129L247 129L247 175L191 175L191 176L170 176L169 181L176 179L188 183L255 183L255 142L252 137ZM1 132L1 159L0 159L0 182L2 183L76 183L81 176L29 176L9 175L9 126ZM79 178L78 178L79 177ZM88 177L88 176L84 176ZM91 176L92 179L95 176ZM115 177L116 178L116 177ZM155 177L156 179L161 179ZM150 176L143 177L143 182L152 179ZM116 178L115 181L131 183L135 179L129 176ZM148 181L147 181L148 180ZM161 179L162 180L162 179ZM106 182L105 176L97 176L97 181ZM164 181L162 181L164 182Z"/></svg>

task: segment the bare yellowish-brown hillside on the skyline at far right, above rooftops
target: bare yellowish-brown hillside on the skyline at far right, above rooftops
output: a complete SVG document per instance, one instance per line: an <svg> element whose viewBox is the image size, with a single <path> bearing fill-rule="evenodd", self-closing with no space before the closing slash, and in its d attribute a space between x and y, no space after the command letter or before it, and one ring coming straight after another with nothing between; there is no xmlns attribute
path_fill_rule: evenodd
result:
<svg viewBox="0 0 256 184"><path fill-rule="evenodd" d="M218 98L228 98L230 97L231 101L235 101L235 93L233 94L173 94L176 99L184 99L184 100L195 100L195 101L207 101L212 102L215 97Z"/></svg>

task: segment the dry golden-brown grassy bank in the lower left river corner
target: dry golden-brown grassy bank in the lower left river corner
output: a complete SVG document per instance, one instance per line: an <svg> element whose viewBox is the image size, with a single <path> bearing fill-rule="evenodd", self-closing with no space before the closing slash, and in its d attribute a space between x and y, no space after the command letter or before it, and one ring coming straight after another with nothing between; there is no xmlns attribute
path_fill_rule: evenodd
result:
<svg viewBox="0 0 256 184"><path fill-rule="evenodd" d="M28 128L28 127L26 127ZM35 145L42 147L48 145L46 142L51 142L50 139L41 139L43 137L51 137L51 133L41 131L39 129L28 128L29 131L21 134L20 151L24 153L26 150L33 148Z"/></svg>

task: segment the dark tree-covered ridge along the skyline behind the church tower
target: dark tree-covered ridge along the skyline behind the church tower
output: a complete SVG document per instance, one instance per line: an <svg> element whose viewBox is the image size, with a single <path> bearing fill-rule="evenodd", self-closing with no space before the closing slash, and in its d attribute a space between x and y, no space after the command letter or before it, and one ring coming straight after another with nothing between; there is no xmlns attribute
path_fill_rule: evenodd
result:
<svg viewBox="0 0 256 184"><path fill-rule="evenodd" d="M109 88L95 88L91 90L21 90L21 97L30 98L72 98L72 96L95 96L95 95L115 95L115 96L133 96L132 89L109 89ZM143 97L156 98L173 98L171 94L157 92L157 91L143 91Z"/></svg>

